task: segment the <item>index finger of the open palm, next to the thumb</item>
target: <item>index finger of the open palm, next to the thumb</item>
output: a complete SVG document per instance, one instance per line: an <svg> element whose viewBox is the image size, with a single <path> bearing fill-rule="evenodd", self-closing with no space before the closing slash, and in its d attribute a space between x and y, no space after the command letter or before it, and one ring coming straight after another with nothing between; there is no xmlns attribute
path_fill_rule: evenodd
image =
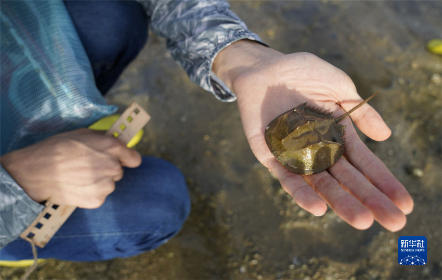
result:
<svg viewBox="0 0 442 280"><path fill-rule="evenodd" d="M346 128L345 155L371 183L383 192L404 214L413 210L413 199L387 166L359 139L353 127Z"/></svg>

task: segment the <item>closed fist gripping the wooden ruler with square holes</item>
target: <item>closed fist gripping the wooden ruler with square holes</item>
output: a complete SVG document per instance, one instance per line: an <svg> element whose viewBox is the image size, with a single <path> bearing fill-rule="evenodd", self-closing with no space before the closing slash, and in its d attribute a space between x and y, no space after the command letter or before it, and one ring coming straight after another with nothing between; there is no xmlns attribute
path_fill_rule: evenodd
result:
<svg viewBox="0 0 442 280"><path fill-rule="evenodd" d="M56 134L4 154L1 165L37 202L97 208L141 156L115 138L87 128Z"/></svg>

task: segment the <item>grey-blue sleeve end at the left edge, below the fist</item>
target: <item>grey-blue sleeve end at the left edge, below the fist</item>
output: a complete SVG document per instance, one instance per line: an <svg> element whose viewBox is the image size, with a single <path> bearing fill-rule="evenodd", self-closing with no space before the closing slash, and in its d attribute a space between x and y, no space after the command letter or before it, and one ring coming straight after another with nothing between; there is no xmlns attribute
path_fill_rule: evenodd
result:
<svg viewBox="0 0 442 280"><path fill-rule="evenodd" d="M0 166L0 248L15 240L43 211Z"/></svg>

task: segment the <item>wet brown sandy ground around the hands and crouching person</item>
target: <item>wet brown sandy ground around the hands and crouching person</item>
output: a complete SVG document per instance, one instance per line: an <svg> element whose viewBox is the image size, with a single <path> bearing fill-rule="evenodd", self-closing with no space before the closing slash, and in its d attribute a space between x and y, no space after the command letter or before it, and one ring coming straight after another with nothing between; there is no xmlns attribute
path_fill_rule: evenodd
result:
<svg viewBox="0 0 442 280"><path fill-rule="evenodd" d="M391 137L360 134L414 199L407 226L357 230L331 210L294 204L251 153L236 103L192 84L153 34L108 101L136 101L152 115L137 150L176 164L192 213L167 244L128 259L48 260L31 279L441 279L442 57L425 49L442 34L441 1L231 1L273 48L308 51L345 71L384 117ZM401 266L397 239L425 235L428 263ZM2 279L23 269L1 268Z"/></svg>

